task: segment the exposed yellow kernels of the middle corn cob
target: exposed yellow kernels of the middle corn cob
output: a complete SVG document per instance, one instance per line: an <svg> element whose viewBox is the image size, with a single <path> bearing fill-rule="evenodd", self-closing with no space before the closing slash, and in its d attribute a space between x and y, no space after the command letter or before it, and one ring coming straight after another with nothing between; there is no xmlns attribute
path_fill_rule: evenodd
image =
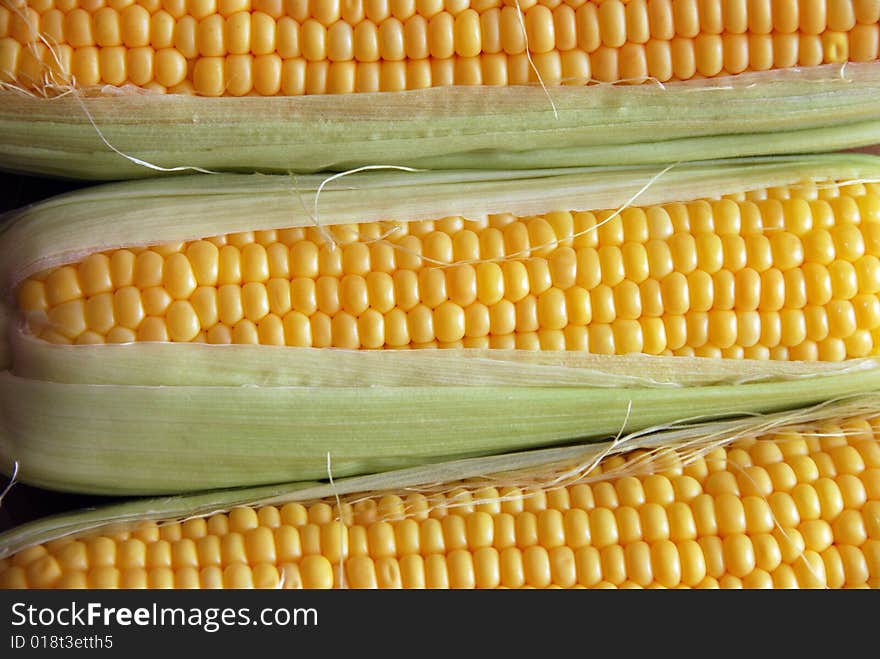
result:
<svg viewBox="0 0 880 659"><path fill-rule="evenodd" d="M60 343L839 361L880 340L877 188L246 232L94 254L25 281L19 303Z"/></svg>

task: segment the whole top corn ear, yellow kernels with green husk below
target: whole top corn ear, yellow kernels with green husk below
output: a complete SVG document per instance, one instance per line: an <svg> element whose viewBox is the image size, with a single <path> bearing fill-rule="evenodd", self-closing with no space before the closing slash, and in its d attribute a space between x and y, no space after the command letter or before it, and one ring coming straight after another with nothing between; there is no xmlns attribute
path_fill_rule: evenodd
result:
<svg viewBox="0 0 880 659"><path fill-rule="evenodd" d="M860 147L880 141L878 11L876 0L4 0L0 156L5 169L118 179ZM206 102L218 95L229 97Z"/></svg>

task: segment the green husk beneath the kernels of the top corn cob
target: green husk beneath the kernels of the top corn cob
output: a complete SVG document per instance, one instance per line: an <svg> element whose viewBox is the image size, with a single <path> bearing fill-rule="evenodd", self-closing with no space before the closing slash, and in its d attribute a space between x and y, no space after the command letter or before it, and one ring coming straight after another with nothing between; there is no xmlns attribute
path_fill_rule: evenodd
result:
<svg viewBox="0 0 880 659"><path fill-rule="evenodd" d="M633 165L865 146L880 141L878 119L877 62L546 92L487 86L214 99L118 90L44 99L10 91L0 94L0 168L119 179L166 173L135 159L302 173L373 164Z"/></svg>

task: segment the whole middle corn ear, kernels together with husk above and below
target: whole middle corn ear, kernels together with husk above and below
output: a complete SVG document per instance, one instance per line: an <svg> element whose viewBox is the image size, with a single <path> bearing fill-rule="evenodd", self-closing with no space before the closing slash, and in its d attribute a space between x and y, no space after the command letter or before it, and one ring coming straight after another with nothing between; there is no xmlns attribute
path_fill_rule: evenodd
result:
<svg viewBox="0 0 880 659"><path fill-rule="evenodd" d="M871 304L876 305L878 291L874 283L877 269L871 265L876 262L876 249L870 238L876 224L875 167L871 158L845 156L682 165L660 178L651 168L629 174L616 168L543 172L527 178L363 172L344 181L308 179L296 184L271 177L210 176L170 183L129 183L60 197L23 211L4 234L7 244L17 248L4 254L0 276L10 290L18 290L19 300L30 310L23 317L19 311L9 311L11 368L0 375L6 419L0 454L7 470L17 460L22 480L50 488L168 493L321 478L326 473L328 451L333 455L335 473L342 477L456 456L547 446L576 437L602 437L624 426L635 430L677 420L681 410L687 410L688 416L718 418L872 390L878 385L876 362L871 357L876 332ZM848 183L843 185L844 181ZM169 194L171 189L178 194ZM319 189L322 192L317 200L304 196ZM823 197L837 196L819 198L820 189ZM799 199L797 195L772 198L795 190L816 199ZM725 195L727 198L722 198ZM766 200L751 200L765 195ZM546 219L549 209L617 209L635 197L638 203L628 204L619 216L563 211L549 216L556 218L557 229ZM584 205L584 199L590 200L590 206ZM310 209L312 201L317 202L317 210ZM713 208L720 210L710 214ZM793 213L786 215L785 208ZM808 212L802 214L797 209ZM487 213L501 212L509 213L505 218L512 220L504 225L507 243L504 230L479 220ZM648 222L649 215L659 220ZM538 216L544 219L531 219ZM112 217L113 223L104 222L104 217ZM575 217L586 224L575 227ZM678 218L675 225L672 217ZM418 225L404 222L425 218L453 219ZM388 224L378 224L380 221ZM710 229L710 223L714 228ZM273 231L273 227L283 226L290 228ZM354 240L381 238L383 227L398 226L408 234L401 239L409 245L408 252L395 251L399 245L390 238L369 245ZM480 235L489 238L482 243L491 249L495 249L492 245L503 246L505 251L461 252L462 246L481 243L477 233L466 226L483 226ZM647 254L652 226L660 232L658 236L673 231L666 242L654 239L651 249L656 247L661 257L655 259L655 269L658 263L671 263L673 269L681 268L688 275L668 272L661 281L663 273L655 272L655 279L650 279L651 264L638 255ZM445 233L436 230L444 227ZM566 232L572 233L571 246ZM798 236L805 232L815 232L819 241L806 240L804 245L815 242L824 247L806 250L811 261L816 260L813 251L821 254L816 263L801 269ZM306 233L314 240L306 240ZM575 233L580 235L575 238ZM219 249L210 241L195 240L233 234ZM244 244L241 239L251 235L254 242ZM268 245L258 242L257 235ZM286 245L277 240L279 236L303 239ZM321 236L326 242L318 247L316 241ZM575 251L574 241L582 239L596 240L596 247L579 246ZM642 239L647 242L640 242ZM756 275L758 270L763 273L764 281L762 275L752 277L753 284L767 289L757 298L752 285L736 288L733 271L732 298L730 288L725 292L718 275L724 269L724 249L714 249L719 243L723 246L725 239L740 246L747 239L752 245L746 250L728 249L728 255L734 260L746 258L746 276L751 266L755 266ZM599 241L607 244L600 246ZM168 243L177 247L146 249ZM779 247L788 244L791 247ZM125 246L139 247L134 251L120 249ZM210 254L216 250L216 262L195 258L194 269L187 254L196 255L196 247ZM237 268L241 276L250 277L252 270L271 275L269 248L287 259L287 275L276 278L281 281L273 285L277 289L273 301L269 283L262 281L220 284L218 279L214 283L220 288L215 290L210 285L213 280L203 279L204 286L197 293L194 284L200 282L196 277L213 277L205 275L213 272L211 264L216 264L220 277L221 253L229 255L224 256L229 263L237 263L233 270ZM517 254L523 249L528 253ZM96 251L97 256L87 256ZM308 258L292 258L300 251ZM420 256L415 258L413 251ZM583 263L592 265L578 270L578 252ZM637 256L624 259L624 252ZM336 263L336 274L344 276L322 275L321 253L325 262ZM369 256L372 263L374 254L385 254L376 256L380 267L374 272L344 272L343 268L367 267L363 259ZM833 262L828 263L827 272L844 275L835 275L832 280L830 275L815 279L807 274L808 266L825 272L825 265L819 262L824 263L829 255ZM468 264L473 256L481 261L473 264L476 267ZM166 257L176 265L166 268ZM411 257L412 262L408 260ZM131 265L132 284L134 277L153 278L137 282L143 291L136 286L120 286L112 292L102 288L108 277L109 285L115 286L112 264L118 265L120 258ZM147 258L163 264L162 272L167 271L168 276L144 267ZM391 260L383 262L383 258ZM438 262L463 259L458 265L464 267L431 263L426 258ZM137 266L138 259L141 266ZM77 261L81 265L65 265ZM199 263L209 267L202 268ZM273 267L283 270L284 264L281 258ZM476 276L480 265L488 266L490 273L497 274L500 269L502 275L508 269L514 276L489 277L489 285L484 281L481 288ZM383 272L383 267L393 271ZM637 271L648 278L640 280L642 275L633 274ZM37 274L40 272L45 276ZM175 279L175 272L185 276ZM447 275L456 272L472 276L458 282L450 279L447 284ZM592 287L584 286L584 277L595 278L597 272L598 280ZM804 273L802 277L799 272ZM618 276L614 273L622 273L622 280L612 280ZM779 276L773 279L773 273ZM667 294L664 302L663 282L667 278L684 282L688 276L693 283L687 290L693 293L684 299L683 288L667 282L673 295ZM395 277L416 286L388 287L389 279L393 283ZM368 278L373 282L372 296ZM728 283L730 280L728 277ZM376 281L385 288L375 286ZM712 286L711 299L708 288L700 288L699 281ZM817 281L818 287L813 285ZM21 282L24 284L19 286ZM96 282L101 290L95 288ZM612 284L619 293L614 293ZM812 296L825 285L832 286L829 300L806 298L807 291ZM544 288L538 290L538 286ZM330 293L318 297L319 287ZM376 290L384 291L385 297L377 296ZM503 297L513 290L518 291L516 297ZM623 294L627 290L634 293L632 298ZM634 312L641 304L642 291L652 290L655 294L659 291L660 303L675 301L686 306L666 312L652 310L651 298L646 296L643 310L647 313L639 317ZM238 296L231 296L230 306L220 304L221 297L229 295L224 291ZM257 303L248 297L250 291L256 291ZM481 291L483 300L477 297ZM72 299L63 299L71 292L76 293ZM287 304L285 292L289 310L277 306ZM90 297L77 297L80 293ZM333 294L338 308L318 309L318 301L326 305ZM217 300L216 322L206 323L201 341L210 340L209 333L230 341L274 337L275 342L281 342L283 336L285 344L288 336L291 344L297 343L293 340L296 337L311 336L312 346L394 348L443 341L448 348L460 349L340 350L157 341L200 338L202 320L196 309L203 315L205 310L198 301L200 295ZM314 295L314 309L293 309L294 302L311 299L309 295ZM466 295L474 299L465 300ZM737 295L741 300L752 300L749 304L756 299L758 309L725 308L731 301L736 304ZM126 296L136 304L125 306ZM180 299L172 301L175 297ZM53 306L41 309L44 299ZM156 299L167 302L166 313L160 315L144 306ZM602 299L608 306L600 304ZM250 318L226 316L232 307L238 313L236 302L241 305L241 314L248 313ZM556 302L559 306L554 306ZM761 308L762 302L774 310ZM610 306L612 303L615 306ZM717 309L713 306L716 303ZM509 324L511 317L505 314L513 308L514 325L493 333L490 304L494 304L496 322ZM806 306L800 304L815 309L803 311ZM254 309L259 310L260 305L268 305L268 309L257 317ZM272 305L276 305L274 311ZM619 319L599 316L612 309L617 313L618 307ZM838 313L838 308L844 312ZM111 315L102 317L102 309ZM143 313L131 313L140 309ZM311 316L306 311L311 311ZM751 321L743 322L743 329L737 325L734 333L730 325L718 322L716 311L723 312L720 318L733 319L739 313L740 318ZM809 314L825 319L826 335L804 334ZM476 334L474 321L469 325L467 318L479 321L487 315L489 331L484 336L444 334L453 330ZM129 322L134 316L141 318L139 323ZM323 327L324 334L312 329L313 318L314 327ZM833 320L829 322L829 318ZM196 322L198 328L194 327ZM516 322L531 324L517 328ZM534 326L538 322L544 322L544 327ZM269 331L273 323L274 335ZM811 322L810 331L817 326L824 327ZM687 331L691 344L670 343L676 327ZM189 334L181 333L182 328ZM662 334L647 331L651 328ZM193 333L193 329L198 331ZM748 341L740 337L746 336L746 329L752 332ZM398 330L402 333L399 336L394 334ZM427 336L428 330L433 334ZM693 340L700 331L705 339ZM139 332L142 339L150 340L137 341ZM386 341L386 332L397 338ZM607 343L602 343L603 336ZM659 343L660 336L666 336L666 346ZM762 343L762 336L772 340ZM112 343L117 337L131 343ZM567 337L581 337L581 343L566 343L571 340ZM726 338L721 342L718 337ZM784 345L783 337L791 345ZM99 339L105 342L95 343ZM467 344L464 339L469 339ZM465 349L466 345L471 347ZM820 345L824 346L821 351ZM544 350L523 349L542 346ZM666 350L665 355L596 354ZM697 354L752 359L690 357ZM786 361L786 357L794 359ZM824 361L804 361L808 358ZM94 413L98 408L100 415ZM242 437L248 438L246 444Z"/></svg>

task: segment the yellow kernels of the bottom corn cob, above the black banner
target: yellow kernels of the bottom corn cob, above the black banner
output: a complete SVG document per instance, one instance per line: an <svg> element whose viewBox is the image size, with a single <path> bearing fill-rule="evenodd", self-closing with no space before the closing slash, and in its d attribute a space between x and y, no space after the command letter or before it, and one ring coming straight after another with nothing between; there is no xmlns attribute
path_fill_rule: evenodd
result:
<svg viewBox="0 0 880 659"><path fill-rule="evenodd" d="M876 588L878 431L876 418L844 419L685 461L666 450L650 474L632 469L636 452L551 490L463 486L143 523L26 549L0 564L0 585Z"/></svg>

